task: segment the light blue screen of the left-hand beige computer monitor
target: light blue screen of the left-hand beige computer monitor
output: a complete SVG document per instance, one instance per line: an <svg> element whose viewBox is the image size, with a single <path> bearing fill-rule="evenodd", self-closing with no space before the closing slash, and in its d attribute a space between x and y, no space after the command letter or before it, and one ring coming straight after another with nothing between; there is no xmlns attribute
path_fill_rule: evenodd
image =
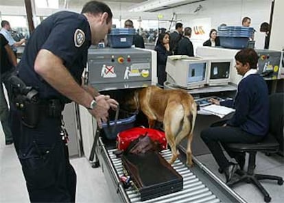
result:
<svg viewBox="0 0 284 203"><path fill-rule="evenodd" d="M205 80L206 63L190 63L187 82L200 82Z"/></svg>

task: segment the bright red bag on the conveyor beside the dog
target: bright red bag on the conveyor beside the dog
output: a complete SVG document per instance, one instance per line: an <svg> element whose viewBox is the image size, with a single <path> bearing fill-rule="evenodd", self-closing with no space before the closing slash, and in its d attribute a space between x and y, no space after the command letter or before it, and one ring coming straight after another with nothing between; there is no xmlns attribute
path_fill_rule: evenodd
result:
<svg viewBox="0 0 284 203"><path fill-rule="evenodd" d="M163 150L167 149L167 140L165 139L165 132L143 127L130 128L128 130L119 132L119 134L117 134L117 148L119 150L124 151L131 143L131 141L134 141L134 139L137 139L139 136L145 134L149 136L152 141L158 141L158 143L161 143L161 147Z"/></svg>

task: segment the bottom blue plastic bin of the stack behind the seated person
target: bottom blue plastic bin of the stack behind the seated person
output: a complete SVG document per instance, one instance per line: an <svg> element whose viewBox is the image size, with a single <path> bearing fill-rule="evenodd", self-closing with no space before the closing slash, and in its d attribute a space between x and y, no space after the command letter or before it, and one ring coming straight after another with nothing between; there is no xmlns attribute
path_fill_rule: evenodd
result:
<svg viewBox="0 0 284 203"><path fill-rule="evenodd" d="M220 36L220 45L230 49L244 49L248 46L248 40L248 37Z"/></svg>

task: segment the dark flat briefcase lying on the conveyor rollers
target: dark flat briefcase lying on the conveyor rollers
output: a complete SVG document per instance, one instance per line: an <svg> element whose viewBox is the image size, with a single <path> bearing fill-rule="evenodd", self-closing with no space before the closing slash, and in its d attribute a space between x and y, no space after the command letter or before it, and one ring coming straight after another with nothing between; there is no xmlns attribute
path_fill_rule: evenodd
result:
<svg viewBox="0 0 284 203"><path fill-rule="evenodd" d="M123 154L121 159L141 194L141 201L174 193L183 188L182 176L158 152Z"/></svg>

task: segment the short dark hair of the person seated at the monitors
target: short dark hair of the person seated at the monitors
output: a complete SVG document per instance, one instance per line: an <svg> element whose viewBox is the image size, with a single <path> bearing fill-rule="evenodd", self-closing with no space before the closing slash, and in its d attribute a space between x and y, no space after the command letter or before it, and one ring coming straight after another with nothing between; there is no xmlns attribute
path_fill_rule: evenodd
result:
<svg viewBox="0 0 284 203"><path fill-rule="evenodd" d="M237 52L235 55L235 60L241 62L243 65L246 63L250 64L250 69L257 69L257 61L259 60L259 56L257 56L255 49L246 48Z"/></svg>

